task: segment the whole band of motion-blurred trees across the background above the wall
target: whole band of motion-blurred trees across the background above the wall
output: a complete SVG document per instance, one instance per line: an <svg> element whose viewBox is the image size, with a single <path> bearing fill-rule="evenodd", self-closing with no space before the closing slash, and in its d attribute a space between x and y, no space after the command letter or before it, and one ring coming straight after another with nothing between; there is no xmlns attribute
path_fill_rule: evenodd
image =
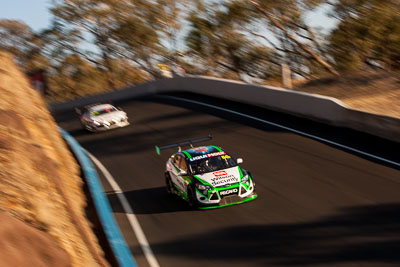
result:
<svg viewBox="0 0 400 267"><path fill-rule="evenodd" d="M337 26L307 24L319 7ZM160 77L158 64L276 83L282 64L312 79L400 68L398 0L56 0L51 26L0 20L0 49L26 73L45 70L63 100Z"/></svg>

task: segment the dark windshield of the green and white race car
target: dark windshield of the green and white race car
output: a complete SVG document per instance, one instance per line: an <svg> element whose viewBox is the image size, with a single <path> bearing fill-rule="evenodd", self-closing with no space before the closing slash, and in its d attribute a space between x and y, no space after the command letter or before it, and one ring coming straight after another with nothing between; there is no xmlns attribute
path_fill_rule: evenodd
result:
<svg viewBox="0 0 400 267"><path fill-rule="evenodd" d="M235 166L237 166L236 161L228 155L204 158L189 162L189 168L193 174L214 172Z"/></svg>

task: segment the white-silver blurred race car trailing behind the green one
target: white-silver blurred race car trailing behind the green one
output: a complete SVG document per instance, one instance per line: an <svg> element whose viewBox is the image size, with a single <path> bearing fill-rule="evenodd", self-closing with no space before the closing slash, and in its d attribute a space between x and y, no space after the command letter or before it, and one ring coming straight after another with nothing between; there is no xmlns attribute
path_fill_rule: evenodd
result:
<svg viewBox="0 0 400 267"><path fill-rule="evenodd" d="M111 104L92 104L75 111L80 115L82 127L91 132L129 125L127 114Z"/></svg>

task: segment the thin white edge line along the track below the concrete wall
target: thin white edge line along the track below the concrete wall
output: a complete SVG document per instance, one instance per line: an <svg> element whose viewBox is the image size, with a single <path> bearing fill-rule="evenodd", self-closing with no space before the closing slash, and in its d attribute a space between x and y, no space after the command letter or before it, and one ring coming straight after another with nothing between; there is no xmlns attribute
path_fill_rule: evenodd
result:
<svg viewBox="0 0 400 267"><path fill-rule="evenodd" d="M253 116L250 116L250 115L247 115L247 114L243 114L243 113L234 111L234 110L221 108L221 107L218 107L218 106L214 106L214 105L210 105L210 104L206 104L206 103L202 103L202 102L198 102L198 101L194 101L194 100L189 100L189 99L185 99L185 98L180 98L180 97L176 97L176 96L162 96L162 97L171 98L171 99L175 99L175 100L179 100L179 101L185 101L185 102L188 102L188 103L198 104L198 105L202 105L202 106L205 106L205 107L210 107L210 108L222 110L222 111L225 111L225 112L229 112L229 113L232 113L232 114L236 114L236 115L248 118L248 119L252 119L252 120L255 120L255 121L266 123L266 124L269 124L269 125L284 129L286 131L290 131L290 132L293 132L293 133L296 133L296 134L307 136L307 137L316 139L318 141L322 141L322 142L325 142L325 143L328 143L328 144L331 144L331 145L334 145L334 146L337 146L337 147L340 147L340 148L344 148L344 149L350 150L352 152L361 154L363 156L371 157L373 159L380 160L380 161L383 161L385 163L393 164L393 165L395 165L397 167L400 167L400 163L398 163L398 162L395 162L395 161L392 161L392 160L388 160L388 159L385 159L385 158L382 158L382 157L379 157L379 156L375 156L373 154L370 154L370 153L367 153L367 152L364 152L364 151L361 151L361 150L358 150L358 149L355 149L355 148L352 148L352 147L349 147L349 146L345 146L345 145L333 142L331 140L318 137L316 135L308 134L308 133L305 133L305 132L302 132L302 131L299 131L299 130L296 130L296 129L293 129L293 128L290 128L290 127L286 127L286 126L283 126L283 125L280 125L280 124L277 124L277 123L274 123L274 122L266 121L266 120L263 120L263 119L260 119L260 118L257 118L257 117L253 117Z"/></svg>

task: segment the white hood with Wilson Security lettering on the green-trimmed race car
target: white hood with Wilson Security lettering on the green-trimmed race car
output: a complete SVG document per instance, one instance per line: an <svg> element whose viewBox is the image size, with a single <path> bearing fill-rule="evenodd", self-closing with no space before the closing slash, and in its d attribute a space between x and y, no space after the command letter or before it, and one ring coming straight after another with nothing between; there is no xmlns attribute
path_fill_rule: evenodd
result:
<svg viewBox="0 0 400 267"><path fill-rule="evenodd" d="M206 181L214 187L225 186L229 184L240 182L240 171L239 166L219 170L215 172L209 172L205 174L198 174L196 177Z"/></svg>

